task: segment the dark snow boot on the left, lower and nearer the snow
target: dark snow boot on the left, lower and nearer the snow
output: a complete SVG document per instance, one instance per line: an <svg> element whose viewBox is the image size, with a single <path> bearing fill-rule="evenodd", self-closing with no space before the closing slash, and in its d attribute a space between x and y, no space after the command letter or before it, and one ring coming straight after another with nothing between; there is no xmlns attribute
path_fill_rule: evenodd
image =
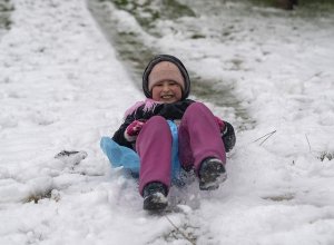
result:
<svg viewBox="0 0 334 245"><path fill-rule="evenodd" d="M144 187L144 209L163 210L167 207L167 187L159 182L153 182Z"/></svg>

